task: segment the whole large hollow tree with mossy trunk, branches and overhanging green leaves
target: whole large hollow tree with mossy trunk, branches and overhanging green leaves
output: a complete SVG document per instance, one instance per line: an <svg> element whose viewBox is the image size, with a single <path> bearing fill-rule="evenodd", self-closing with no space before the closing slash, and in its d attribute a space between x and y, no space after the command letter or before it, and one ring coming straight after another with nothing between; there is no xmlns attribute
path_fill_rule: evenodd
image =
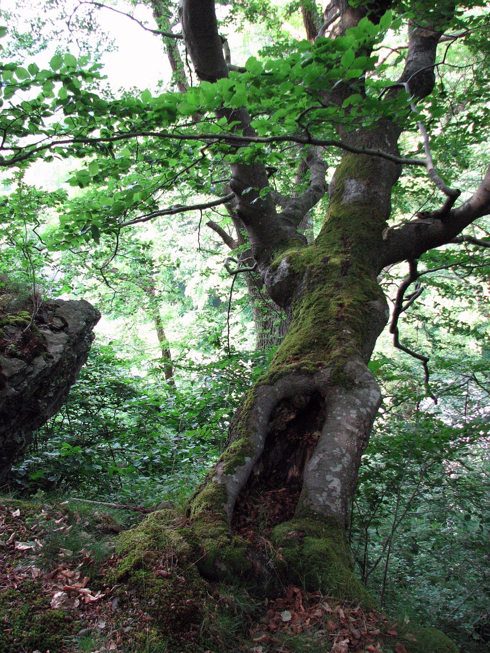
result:
<svg viewBox="0 0 490 653"><path fill-rule="evenodd" d="M243 71L229 72L214 2L184 0L182 32L201 80L185 95L153 98L144 91L141 99L103 99L81 88L96 73L84 72L70 56L57 56L51 71L5 67L7 80L14 74L20 80L12 86L24 88L25 80L25 88L47 91L28 106L4 111L1 163L76 154L95 159L74 174L75 185L111 176L131 181L117 197L94 191L90 211L65 224L61 246L63 239L97 240L101 232L117 234L160 215L233 207L253 256L243 272L256 266L270 298L289 313L289 330L269 370L242 400L227 447L191 502L193 529L204 550L197 567L205 577L253 577L262 586L280 572L308 589L367 601L353 577L344 532L381 402L368 367L389 319L378 278L408 261L391 332L395 345L425 366L430 395L427 358L400 344L397 321L416 299L417 287L405 293L419 278L425 253L449 244L489 245L478 237L478 226L474 234L464 231L490 214L490 168L483 179L474 171L459 204L460 189L438 172L456 180L468 153L478 153L478 123L485 125L487 116L488 14L472 2L444 0L429 7L335 0L316 39L312 8L303 8L313 44L278 42L270 47L271 58L251 57ZM387 30L402 25L408 43L387 50ZM451 60L451 46L459 41L472 57L470 75L459 55ZM52 88L60 84L55 95ZM50 115L61 110L63 121L43 121L48 109ZM12 133L39 138L12 142ZM280 144L289 150L274 149ZM308 170L308 183L297 197L287 197L281 191L289 176L280 170L298 161ZM157 182L145 177L155 167ZM325 219L308 244L298 227L325 197L325 173L333 167ZM229 172L224 181L223 171ZM218 199L161 208L150 185L161 192L176 182L195 193L216 192ZM392 202L401 206L406 197L403 185L426 210L390 223ZM446 197L442 206L434 188ZM261 505L268 509L267 541L276 551L272 563L259 546L253 517Z"/></svg>

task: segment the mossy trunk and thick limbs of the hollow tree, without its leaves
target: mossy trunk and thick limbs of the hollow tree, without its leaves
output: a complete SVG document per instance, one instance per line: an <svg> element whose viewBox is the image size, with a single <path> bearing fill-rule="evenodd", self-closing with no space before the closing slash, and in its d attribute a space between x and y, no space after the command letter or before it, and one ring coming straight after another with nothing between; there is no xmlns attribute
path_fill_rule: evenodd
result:
<svg viewBox="0 0 490 653"><path fill-rule="evenodd" d="M336 35L365 16L377 22L390 6L389 0L355 7L343 0L334 4ZM406 65L389 93L405 88L421 98L431 92L436 46L453 9L449 2L431 5L426 16L409 25ZM181 19L199 78L227 76L214 2L184 0ZM348 83L338 82L325 91L325 102L342 107L351 92ZM347 105L346 114L349 110ZM231 131L254 135L245 108L223 108L217 114L229 121ZM205 575L251 574L257 580L281 567L290 579L302 579L310 588L342 597L363 594L351 576L342 534L381 400L368 370L389 317L376 278L388 264L412 261L450 242L490 211L489 184L484 181L459 208L446 206L444 219L424 215L387 229L391 192L402 172L397 146L402 129L387 119L370 129L361 124L338 129L346 148L361 151L346 153L336 168L325 221L312 244L298 227L326 190L325 165L316 152L306 157L308 188L299 197L283 198L282 212L274 193L261 192L269 187L263 165L231 164L229 185L237 216L270 298L290 312L291 322L270 369L239 407L227 448L193 499L193 523L205 550L199 566ZM384 155L368 155L367 150ZM270 509L263 535L280 550L273 560L250 546L257 540L253 515L266 503ZM242 528L244 518L248 532ZM315 551L322 552L321 560L310 564ZM332 572L333 560L340 561L341 573ZM350 579L350 589L341 577Z"/></svg>

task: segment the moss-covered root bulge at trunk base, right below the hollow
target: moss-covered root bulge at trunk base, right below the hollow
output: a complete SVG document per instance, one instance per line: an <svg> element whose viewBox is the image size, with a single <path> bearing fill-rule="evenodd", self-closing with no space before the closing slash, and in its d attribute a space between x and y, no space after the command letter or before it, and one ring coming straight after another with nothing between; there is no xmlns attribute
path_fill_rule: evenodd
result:
<svg viewBox="0 0 490 653"><path fill-rule="evenodd" d="M355 576L344 530L335 518L293 518L276 526L270 539L278 547L276 565L287 581L311 592L376 607Z"/></svg>

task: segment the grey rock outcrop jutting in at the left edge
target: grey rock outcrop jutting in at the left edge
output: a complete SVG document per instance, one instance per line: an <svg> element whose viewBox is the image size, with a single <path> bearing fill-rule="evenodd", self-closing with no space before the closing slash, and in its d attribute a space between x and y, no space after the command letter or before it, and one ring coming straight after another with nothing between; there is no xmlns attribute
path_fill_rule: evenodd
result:
<svg viewBox="0 0 490 653"><path fill-rule="evenodd" d="M33 432L65 402L101 317L84 300L1 309L0 302L0 485Z"/></svg>

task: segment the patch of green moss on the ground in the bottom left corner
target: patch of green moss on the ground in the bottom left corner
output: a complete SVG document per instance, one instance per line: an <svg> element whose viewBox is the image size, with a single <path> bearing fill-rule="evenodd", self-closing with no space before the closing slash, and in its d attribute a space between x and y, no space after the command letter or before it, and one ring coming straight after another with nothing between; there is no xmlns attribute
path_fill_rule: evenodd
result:
<svg viewBox="0 0 490 653"><path fill-rule="evenodd" d="M71 616L52 610L50 597L39 582L25 582L22 590L10 588L0 597L0 653L26 650L61 650L63 639L73 632Z"/></svg>

